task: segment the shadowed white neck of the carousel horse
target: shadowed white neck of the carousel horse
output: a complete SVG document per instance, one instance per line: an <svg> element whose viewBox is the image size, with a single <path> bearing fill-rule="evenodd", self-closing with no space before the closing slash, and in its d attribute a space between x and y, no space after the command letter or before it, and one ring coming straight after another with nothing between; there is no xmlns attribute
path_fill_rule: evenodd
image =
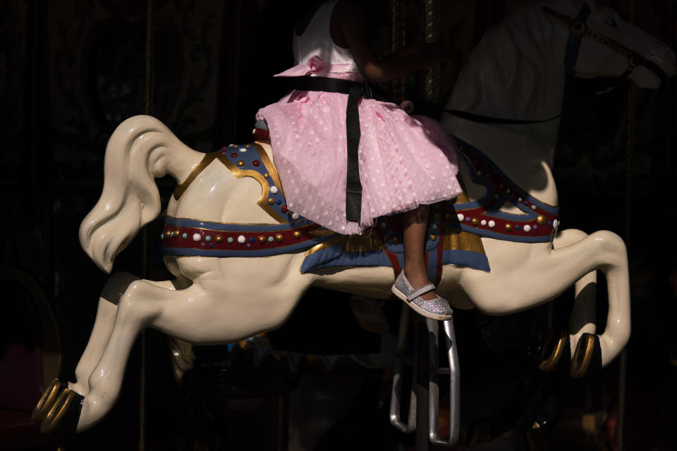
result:
<svg viewBox="0 0 677 451"><path fill-rule="evenodd" d="M473 49L447 107L508 119L540 121L558 116L566 77L563 47L551 22L544 20L540 4L520 8L487 31ZM552 191L544 184L551 180L559 119L499 125L446 115L443 124L452 135L487 154L523 189ZM544 202L556 202L556 192L545 195L549 199Z"/></svg>

